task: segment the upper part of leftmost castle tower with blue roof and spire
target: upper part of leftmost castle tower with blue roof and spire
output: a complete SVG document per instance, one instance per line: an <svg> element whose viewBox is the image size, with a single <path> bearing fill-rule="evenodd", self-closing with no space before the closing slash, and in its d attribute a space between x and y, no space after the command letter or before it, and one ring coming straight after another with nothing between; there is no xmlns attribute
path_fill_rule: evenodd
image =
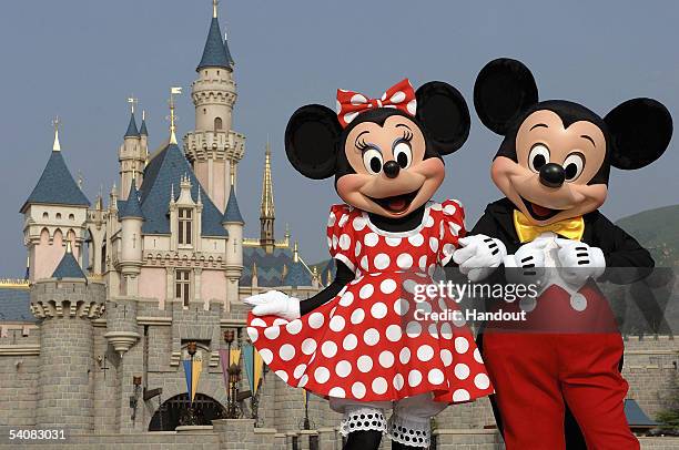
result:
<svg viewBox="0 0 679 450"><path fill-rule="evenodd" d="M29 254L29 279L49 278L63 256L67 242L82 266L90 202L73 180L59 143L59 120L54 120L52 154L38 184L21 206L23 242Z"/></svg>

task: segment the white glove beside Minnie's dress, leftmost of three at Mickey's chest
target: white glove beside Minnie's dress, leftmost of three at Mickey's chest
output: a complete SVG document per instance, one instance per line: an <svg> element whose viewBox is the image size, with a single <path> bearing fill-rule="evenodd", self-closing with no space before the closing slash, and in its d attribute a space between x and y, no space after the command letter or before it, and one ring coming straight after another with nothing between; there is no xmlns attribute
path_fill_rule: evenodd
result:
<svg viewBox="0 0 679 450"><path fill-rule="evenodd" d="M486 278L507 256L507 248L501 241L483 234L463 237L458 243L462 248L455 250L453 260L470 282Z"/></svg>

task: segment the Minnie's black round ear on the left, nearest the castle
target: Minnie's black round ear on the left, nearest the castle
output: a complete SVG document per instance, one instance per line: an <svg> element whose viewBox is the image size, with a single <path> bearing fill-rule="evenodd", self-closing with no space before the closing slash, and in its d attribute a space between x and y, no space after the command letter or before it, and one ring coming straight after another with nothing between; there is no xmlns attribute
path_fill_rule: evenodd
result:
<svg viewBox="0 0 679 450"><path fill-rule="evenodd" d="M302 175L323 180L335 174L336 143L342 133L337 114L330 108L310 104L290 117L285 129L285 153Z"/></svg>

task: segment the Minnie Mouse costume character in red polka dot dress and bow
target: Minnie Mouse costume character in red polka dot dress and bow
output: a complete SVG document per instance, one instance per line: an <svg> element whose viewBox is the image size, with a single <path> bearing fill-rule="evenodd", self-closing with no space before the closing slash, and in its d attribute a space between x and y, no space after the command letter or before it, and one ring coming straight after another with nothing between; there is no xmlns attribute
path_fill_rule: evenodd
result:
<svg viewBox="0 0 679 450"><path fill-rule="evenodd" d="M493 392L470 330L415 320L416 308L447 305L409 295L454 264L464 239L460 203L430 198L442 156L467 139L469 112L449 84L415 93L407 80L381 99L340 90L337 106L303 106L285 131L292 165L314 180L335 175L345 202L327 222L335 280L304 301L280 292L247 298L247 333L278 377L344 413L345 449L377 449L384 431L393 449L428 447L432 416Z"/></svg>

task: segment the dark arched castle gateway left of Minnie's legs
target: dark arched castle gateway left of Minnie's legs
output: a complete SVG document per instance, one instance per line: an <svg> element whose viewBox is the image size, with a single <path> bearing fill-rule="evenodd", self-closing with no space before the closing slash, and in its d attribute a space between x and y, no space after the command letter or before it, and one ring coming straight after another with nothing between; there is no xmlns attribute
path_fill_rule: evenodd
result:
<svg viewBox="0 0 679 450"><path fill-rule="evenodd" d="M190 416L195 418L192 425L212 425L215 419L224 417L225 408L210 396L196 393L193 403L186 392L165 400L155 411L149 423L149 431L174 431L181 425L189 425Z"/></svg>

